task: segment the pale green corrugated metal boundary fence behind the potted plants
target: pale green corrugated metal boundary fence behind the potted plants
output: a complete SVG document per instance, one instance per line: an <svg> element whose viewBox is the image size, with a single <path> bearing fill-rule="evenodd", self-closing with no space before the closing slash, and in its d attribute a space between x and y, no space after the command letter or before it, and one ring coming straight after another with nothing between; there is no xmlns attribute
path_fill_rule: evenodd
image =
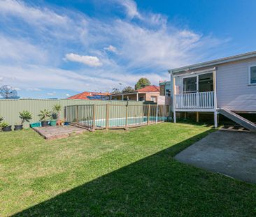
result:
<svg viewBox="0 0 256 217"><path fill-rule="evenodd" d="M1 100L0 99L0 117L10 125L20 124L19 112L28 110L31 112L33 119L30 123L39 121L38 114L40 110L52 110L53 105L62 105L61 118L64 118L64 107L68 105L127 105L126 101L102 101L102 100L41 100L41 99L18 99L18 100ZM143 105L143 102L129 101L129 105ZM82 107L80 107L82 110ZM80 113L83 115L83 113ZM29 124L24 124L28 128Z"/></svg>

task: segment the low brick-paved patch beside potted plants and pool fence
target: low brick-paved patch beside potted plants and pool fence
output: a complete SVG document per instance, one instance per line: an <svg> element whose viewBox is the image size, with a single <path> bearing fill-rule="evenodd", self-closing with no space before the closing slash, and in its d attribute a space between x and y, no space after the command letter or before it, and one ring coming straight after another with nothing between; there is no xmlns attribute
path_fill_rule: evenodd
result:
<svg viewBox="0 0 256 217"><path fill-rule="evenodd" d="M59 139L84 133L85 129L75 126L46 126L33 128L37 133L42 135L46 140Z"/></svg>

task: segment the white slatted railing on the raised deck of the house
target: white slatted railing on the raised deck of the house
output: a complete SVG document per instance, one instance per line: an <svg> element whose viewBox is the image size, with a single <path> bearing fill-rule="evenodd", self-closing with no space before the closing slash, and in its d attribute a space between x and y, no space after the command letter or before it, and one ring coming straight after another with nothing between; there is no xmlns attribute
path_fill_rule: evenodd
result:
<svg viewBox="0 0 256 217"><path fill-rule="evenodd" d="M176 94L177 109L213 109L214 92Z"/></svg>

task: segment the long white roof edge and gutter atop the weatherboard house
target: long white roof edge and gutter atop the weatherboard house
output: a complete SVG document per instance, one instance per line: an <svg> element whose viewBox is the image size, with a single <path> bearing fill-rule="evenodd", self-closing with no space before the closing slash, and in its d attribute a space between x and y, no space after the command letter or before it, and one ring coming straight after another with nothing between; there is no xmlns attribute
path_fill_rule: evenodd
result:
<svg viewBox="0 0 256 217"><path fill-rule="evenodd" d="M249 59L249 58L253 58L256 57L256 51L253 52L248 52L245 54L239 54L239 55L235 55L235 56L231 56L231 57L225 57L225 58L221 58L221 59L215 59L212 61L206 61L203 63L197 63L197 64L192 64L189 66L183 66L180 68L173 68L171 70L168 70L169 73L178 73L184 70L193 70L193 69L197 69L197 68L203 68L203 67L210 67L210 66L215 66L221 63L229 63L232 61L238 61L238 60L242 60L242 59Z"/></svg>

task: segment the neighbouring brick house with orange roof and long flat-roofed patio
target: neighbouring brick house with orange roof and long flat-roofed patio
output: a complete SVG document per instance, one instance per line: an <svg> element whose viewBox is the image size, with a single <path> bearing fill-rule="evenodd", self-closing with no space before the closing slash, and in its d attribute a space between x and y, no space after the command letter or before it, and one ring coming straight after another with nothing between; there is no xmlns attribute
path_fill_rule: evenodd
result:
<svg viewBox="0 0 256 217"><path fill-rule="evenodd" d="M157 103L159 97L159 87L149 85L134 92L111 94L111 100L136 100L136 101L152 101Z"/></svg>

